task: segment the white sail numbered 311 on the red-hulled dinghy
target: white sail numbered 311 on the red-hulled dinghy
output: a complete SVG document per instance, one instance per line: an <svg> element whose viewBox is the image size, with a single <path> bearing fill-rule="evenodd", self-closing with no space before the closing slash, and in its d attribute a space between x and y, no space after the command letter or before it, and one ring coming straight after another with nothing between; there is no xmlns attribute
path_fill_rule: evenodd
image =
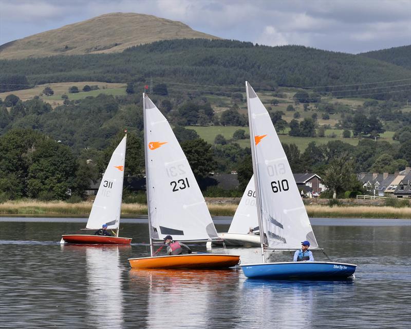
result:
<svg viewBox="0 0 411 329"><path fill-rule="evenodd" d="M113 230L119 227L121 198L123 195L125 146L126 136L111 155L91 208L86 229L98 230L103 224L107 224L107 228Z"/></svg>

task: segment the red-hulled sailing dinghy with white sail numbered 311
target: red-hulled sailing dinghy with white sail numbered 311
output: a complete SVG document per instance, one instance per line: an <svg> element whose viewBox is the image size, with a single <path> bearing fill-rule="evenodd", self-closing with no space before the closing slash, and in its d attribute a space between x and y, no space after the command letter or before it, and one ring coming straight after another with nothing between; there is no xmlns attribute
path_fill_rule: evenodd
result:
<svg viewBox="0 0 411 329"><path fill-rule="evenodd" d="M131 238L119 237L121 198L123 195L124 160L127 135L117 146L104 172L96 199L91 207L86 230L101 229L115 232L115 236L70 234L62 235L60 243L86 245L128 245Z"/></svg>

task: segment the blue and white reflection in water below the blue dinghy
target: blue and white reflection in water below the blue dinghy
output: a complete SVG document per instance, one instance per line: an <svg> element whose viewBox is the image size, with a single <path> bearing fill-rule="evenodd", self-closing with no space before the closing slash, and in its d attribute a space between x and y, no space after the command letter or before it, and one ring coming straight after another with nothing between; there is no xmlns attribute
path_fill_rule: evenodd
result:
<svg viewBox="0 0 411 329"><path fill-rule="evenodd" d="M253 328L272 327L274 323L281 323L281 327L284 328L302 328L307 325L319 327L322 322L327 322L327 325L331 326L330 314L338 314L341 307L347 308L347 305L352 303L352 314L355 313L358 305L353 302L354 284L353 279L245 280L242 283L242 296L245 296L245 300L238 303L242 308L240 316L246 320L252 314L259 315L253 317L250 326ZM336 322L335 327L343 326Z"/></svg>

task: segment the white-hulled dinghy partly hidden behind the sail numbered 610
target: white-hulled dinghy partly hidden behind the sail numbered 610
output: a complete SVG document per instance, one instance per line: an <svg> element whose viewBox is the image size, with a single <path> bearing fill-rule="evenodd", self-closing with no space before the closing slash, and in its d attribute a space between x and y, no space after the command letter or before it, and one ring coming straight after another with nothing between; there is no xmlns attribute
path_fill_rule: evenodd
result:
<svg viewBox="0 0 411 329"><path fill-rule="evenodd" d="M213 241L213 244L221 245L224 243L226 246L256 247L260 245L258 231L254 176L252 176L238 204L228 232L218 233L222 241Z"/></svg>

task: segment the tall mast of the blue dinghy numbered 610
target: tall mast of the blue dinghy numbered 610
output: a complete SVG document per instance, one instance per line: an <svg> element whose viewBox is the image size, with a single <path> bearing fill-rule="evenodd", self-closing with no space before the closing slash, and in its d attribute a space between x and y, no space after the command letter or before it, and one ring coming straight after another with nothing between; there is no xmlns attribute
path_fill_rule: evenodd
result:
<svg viewBox="0 0 411 329"><path fill-rule="evenodd" d="M258 226L260 228L260 244L261 244L261 256L263 257L263 263L266 262L264 256L264 227L263 227L263 214L260 198L260 180L259 172L256 159L256 150L255 150L255 138L254 138L254 127L251 119L251 110L250 110L250 96L248 93L248 82L246 81L246 93L247 93L247 110L248 110L248 123L250 126L250 141L251 141L251 157L253 159L253 173L254 173L254 185L255 185L255 198L257 202L257 218Z"/></svg>

